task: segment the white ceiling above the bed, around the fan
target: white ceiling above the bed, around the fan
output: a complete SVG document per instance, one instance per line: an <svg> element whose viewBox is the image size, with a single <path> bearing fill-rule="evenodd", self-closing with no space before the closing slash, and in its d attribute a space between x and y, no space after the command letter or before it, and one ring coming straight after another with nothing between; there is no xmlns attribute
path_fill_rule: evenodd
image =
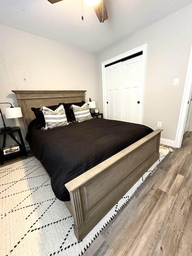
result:
<svg viewBox="0 0 192 256"><path fill-rule="evenodd" d="M1 0L0 24L98 53L178 11L192 0L105 0L108 20L100 23L81 0Z"/></svg>

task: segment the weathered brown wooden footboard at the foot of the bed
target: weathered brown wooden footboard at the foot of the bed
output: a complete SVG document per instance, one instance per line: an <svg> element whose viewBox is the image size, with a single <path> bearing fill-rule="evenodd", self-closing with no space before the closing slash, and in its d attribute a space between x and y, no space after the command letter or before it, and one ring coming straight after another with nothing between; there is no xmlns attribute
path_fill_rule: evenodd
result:
<svg viewBox="0 0 192 256"><path fill-rule="evenodd" d="M65 204L79 241L158 160L161 131L157 129L65 184L71 199Z"/></svg>

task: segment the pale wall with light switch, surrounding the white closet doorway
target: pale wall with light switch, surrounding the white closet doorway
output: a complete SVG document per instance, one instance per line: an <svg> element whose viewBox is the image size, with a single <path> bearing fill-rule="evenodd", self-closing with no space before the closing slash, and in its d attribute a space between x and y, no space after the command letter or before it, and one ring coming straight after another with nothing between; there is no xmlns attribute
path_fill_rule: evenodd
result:
<svg viewBox="0 0 192 256"><path fill-rule="evenodd" d="M100 109L101 62L147 43L143 124L155 130L157 122L161 121L164 129L161 137L175 140L192 44L191 14L192 4L98 54ZM173 86L174 78L178 77L179 86Z"/></svg>

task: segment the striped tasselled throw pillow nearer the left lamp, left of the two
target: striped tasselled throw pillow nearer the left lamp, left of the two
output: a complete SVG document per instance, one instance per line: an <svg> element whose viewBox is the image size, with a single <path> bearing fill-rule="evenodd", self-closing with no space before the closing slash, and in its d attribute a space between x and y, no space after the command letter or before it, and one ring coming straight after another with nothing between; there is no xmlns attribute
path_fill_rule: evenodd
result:
<svg viewBox="0 0 192 256"><path fill-rule="evenodd" d="M68 124L63 105L60 105L55 111L43 106L41 107L41 111L45 118L45 130Z"/></svg>

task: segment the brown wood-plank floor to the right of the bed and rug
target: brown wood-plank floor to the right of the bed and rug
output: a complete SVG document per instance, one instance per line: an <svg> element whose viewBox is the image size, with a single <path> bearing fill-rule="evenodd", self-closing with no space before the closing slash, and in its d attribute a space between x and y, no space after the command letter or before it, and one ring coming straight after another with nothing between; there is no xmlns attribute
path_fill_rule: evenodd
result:
<svg viewBox="0 0 192 256"><path fill-rule="evenodd" d="M192 132L101 231L83 256L192 256Z"/></svg>

